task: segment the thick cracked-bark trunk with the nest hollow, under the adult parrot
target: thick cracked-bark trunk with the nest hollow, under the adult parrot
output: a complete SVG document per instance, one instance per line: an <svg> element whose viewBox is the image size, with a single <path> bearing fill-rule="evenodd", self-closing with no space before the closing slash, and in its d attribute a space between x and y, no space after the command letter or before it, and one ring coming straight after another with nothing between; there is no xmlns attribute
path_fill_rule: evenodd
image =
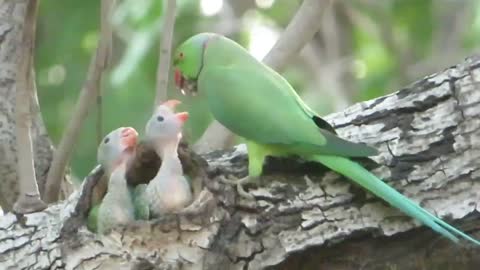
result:
<svg viewBox="0 0 480 270"><path fill-rule="evenodd" d="M380 151L359 160L403 194L480 238L480 57L326 119ZM96 236L82 190L44 212L0 221L9 269L478 269L478 249L419 227L323 166L269 159L245 201L216 181L246 174L245 148L204 156L205 189L186 213ZM183 160L185 161L185 160ZM308 176L313 182L305 181Z"/></svg>

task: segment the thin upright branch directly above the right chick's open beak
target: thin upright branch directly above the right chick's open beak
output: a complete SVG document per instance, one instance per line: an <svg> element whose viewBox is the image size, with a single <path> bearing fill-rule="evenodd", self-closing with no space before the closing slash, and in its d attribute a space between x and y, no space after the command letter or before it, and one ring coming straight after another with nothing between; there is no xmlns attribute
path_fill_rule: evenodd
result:
<svg viewBox="0 0 480 270"><path fill-rule="evenodd" d="M157 94L155 96L155 106L162 100L167 99L168 78L170 70L170 59L172 55L173 30L175 28L175 8L176 0L166 0L162 42L160 45L158 68L157 68Z"/></svg>

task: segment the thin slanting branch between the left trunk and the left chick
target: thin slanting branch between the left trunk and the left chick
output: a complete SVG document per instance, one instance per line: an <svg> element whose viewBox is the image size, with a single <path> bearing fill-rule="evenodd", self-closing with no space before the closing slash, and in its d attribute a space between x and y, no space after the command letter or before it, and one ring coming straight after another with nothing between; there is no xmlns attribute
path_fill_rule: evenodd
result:
<svg viewBox="0 0 480 270"><path fill-rule="evenodd" d="M107 68L112 46L111 14L115 0L102 0L100 40L95 55L88 68L87 79L75 105L72 119L62 136L57 151L55 151L52 166L48 172L45 200L49 203L58 199L60 183L65 173L73 148L79 136L79 131L85 121L88 111L95 103L99 92L103 72Z"/></svg>

